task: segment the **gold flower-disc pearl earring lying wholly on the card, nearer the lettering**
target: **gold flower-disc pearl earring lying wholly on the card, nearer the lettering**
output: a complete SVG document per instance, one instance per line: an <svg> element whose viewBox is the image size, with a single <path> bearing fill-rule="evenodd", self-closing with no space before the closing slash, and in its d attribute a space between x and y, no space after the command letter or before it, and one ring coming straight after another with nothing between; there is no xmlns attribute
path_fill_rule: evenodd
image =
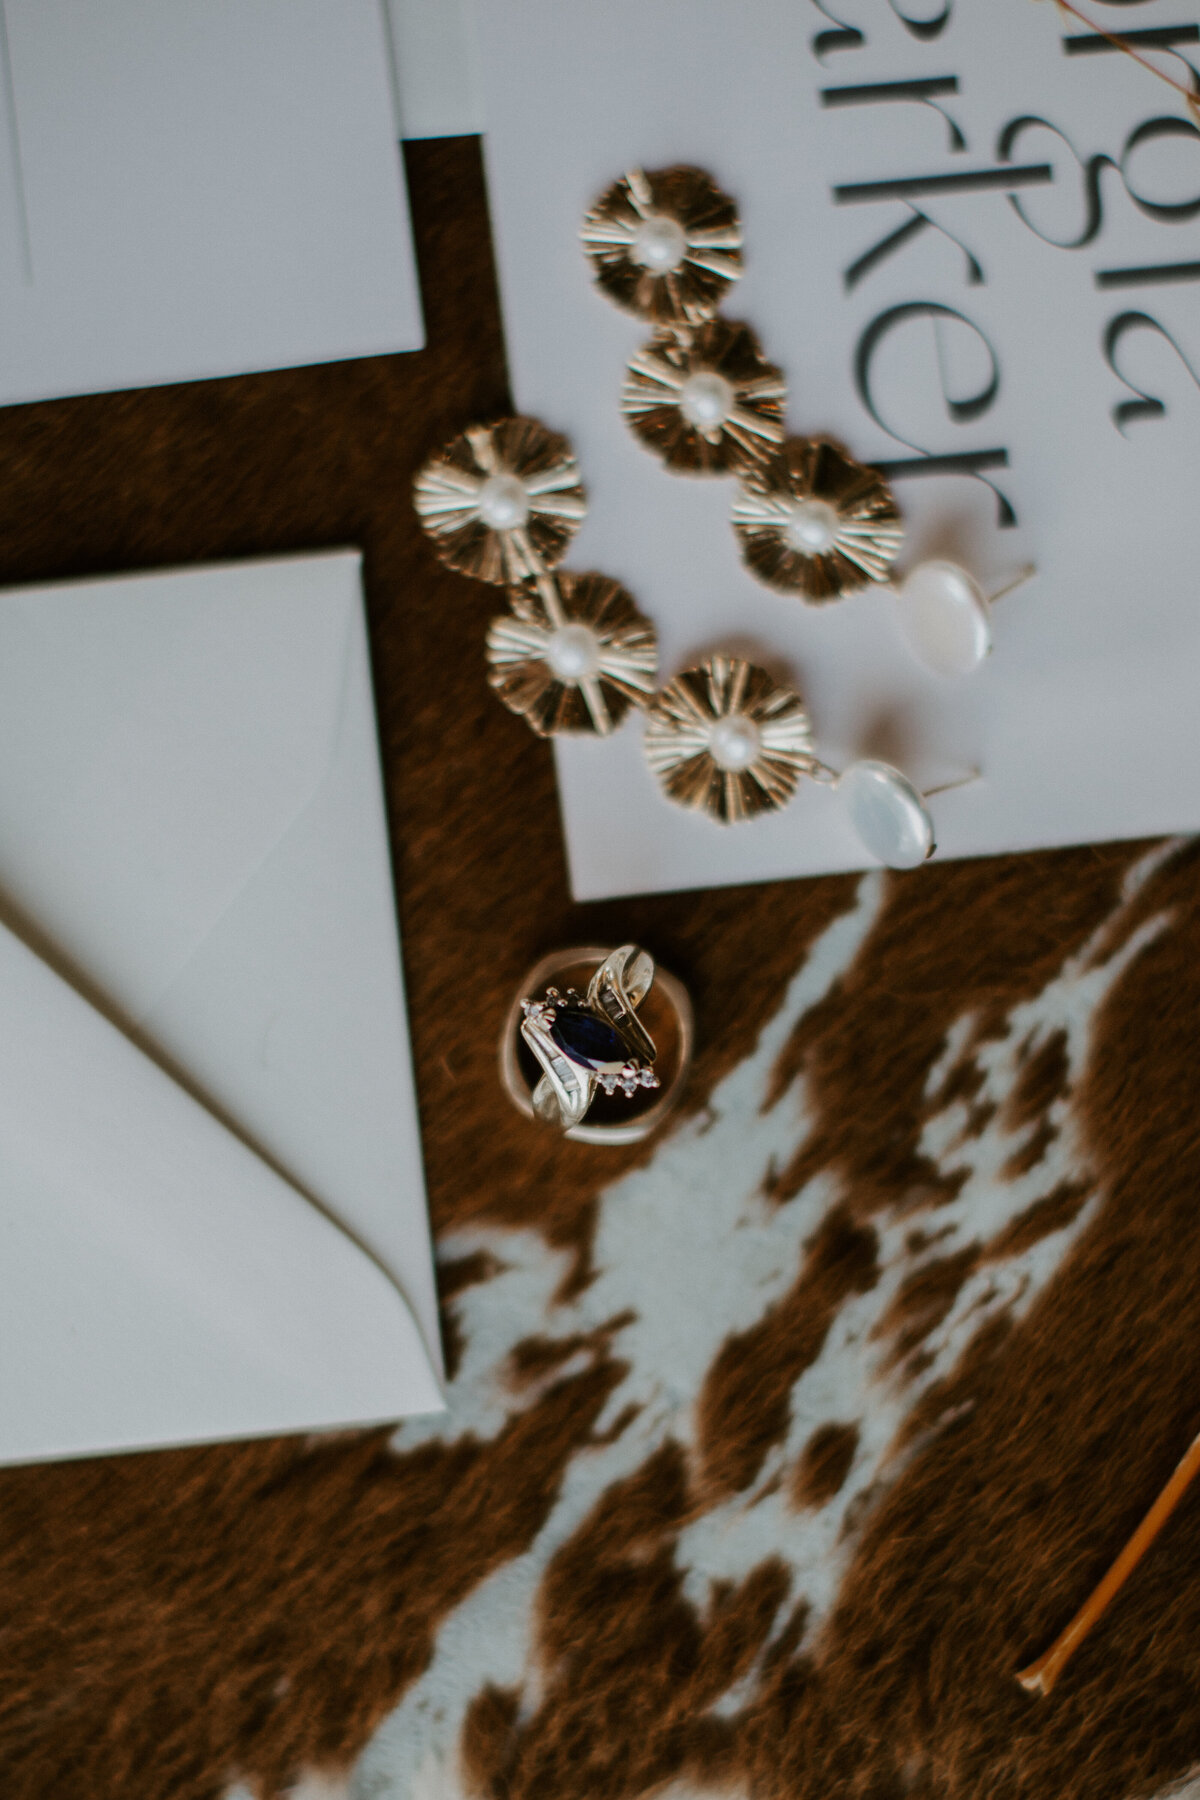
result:
<svg viewBox="0 0 1200 1800"><path fill-rule="evenodd" d="M887 583L925 668L979 668L999 594L943 560L898 580L903 522L887 481L842 445L784 437L783 373L748 324L718 315L743 263L732 196L703 169L635 167L604 189L579 236L601 293L657 328L626 369L626 425L676 473L738 477L732 527L748 572L810 605Z"/></svg>

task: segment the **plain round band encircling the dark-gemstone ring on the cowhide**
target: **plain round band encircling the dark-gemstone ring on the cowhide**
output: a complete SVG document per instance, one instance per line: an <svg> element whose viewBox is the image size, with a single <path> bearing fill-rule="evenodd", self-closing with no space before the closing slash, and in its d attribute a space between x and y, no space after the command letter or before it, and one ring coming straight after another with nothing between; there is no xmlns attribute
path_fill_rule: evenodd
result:
<svg viewBox="0 0 1200 1800"><path fill-rule="evenodd" d="M552 950L534 963L513 997L500 1031L500 1082L516 1111L529 1120L538 1118L533 1089L542 1069L522 1039L522 1001L536 999L549 986L561 990L574 986L583 992L608 954L610 950L596 945ZM574 1143L640 1143L675 1111L691 1067L693 1010L687 988L669 970L655 967L655 979L637 1008L637 1017L658 1049L655 1073L660 1085L642 1087L631 1098L597 1093L581 1123L561 1132Z"/></svg>

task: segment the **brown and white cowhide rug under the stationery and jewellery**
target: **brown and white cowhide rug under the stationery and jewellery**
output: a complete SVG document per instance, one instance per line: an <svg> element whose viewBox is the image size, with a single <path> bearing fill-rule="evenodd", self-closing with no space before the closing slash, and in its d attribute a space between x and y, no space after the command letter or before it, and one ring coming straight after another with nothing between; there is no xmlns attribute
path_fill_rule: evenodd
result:
<svg viewBox="0 0 1200 1800"><path fill-rule="evenodd" d="M363 542L444 1417L0 1474L2 1800L1196 1795L1200 851L572 907L489 598L407 502L506 409L477 148L410 155L430 349L0 414L5 580ZM495 1080L522 970L698 1006L651 1145Z"/></svg>

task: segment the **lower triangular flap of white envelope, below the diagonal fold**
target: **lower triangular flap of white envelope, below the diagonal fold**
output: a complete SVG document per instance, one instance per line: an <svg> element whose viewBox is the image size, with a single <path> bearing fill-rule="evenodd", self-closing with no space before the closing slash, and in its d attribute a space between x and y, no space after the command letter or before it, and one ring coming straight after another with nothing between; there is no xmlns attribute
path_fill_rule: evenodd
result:
<svg viewBox="0 0 1200 1800"><path fill-rule="evenodd" d="M0 927L0 1460L437 1409L378 1264Z"/></svg>

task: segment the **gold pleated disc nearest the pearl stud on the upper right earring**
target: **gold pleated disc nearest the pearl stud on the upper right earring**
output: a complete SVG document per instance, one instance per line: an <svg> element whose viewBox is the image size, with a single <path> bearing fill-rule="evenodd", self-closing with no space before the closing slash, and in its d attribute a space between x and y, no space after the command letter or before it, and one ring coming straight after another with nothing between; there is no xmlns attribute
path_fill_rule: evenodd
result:
<svg viewBox="0 0 1200 1800"><path fill-rule="evenodd" d="M811 601L887 581L905 535L880 472L813 437L747 470L732 518L750 574Z"/></svg>

